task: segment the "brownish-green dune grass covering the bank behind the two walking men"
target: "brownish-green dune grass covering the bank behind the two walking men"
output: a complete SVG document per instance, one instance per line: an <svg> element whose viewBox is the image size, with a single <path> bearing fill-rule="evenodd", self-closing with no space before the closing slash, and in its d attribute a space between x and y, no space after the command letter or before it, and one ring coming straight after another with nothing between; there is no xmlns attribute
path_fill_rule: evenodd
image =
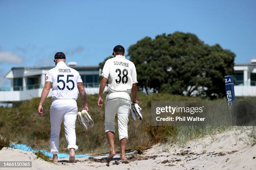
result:
<svg viewBox="0 0 256 170"><path fill-rule="evenodd" d="M105 98L104 94L104 98ZM97 154L109 152L108 141L104 133L104 109L97 107L97 95L88 95L89 113L95 122L92 129L85 131L76 122L77 154ZM175 142L186 143L194 138L223 132L230 127L224 126L152 126L151 123L151 101L205 101L200 97L186 97L169 94L145 95L138 93L140 106L143 108L143 121L133 121L129 117L128 123L128 145L127 149L147 147L156 143ZM220 99L225 101L225 99ZM44 103L44 116L39 117L37 107L40 98L18 102L12 108L0 108L0 134L8 134L15 143L26 143L32 148L50 150L50 105L51 98ZM81 110L82 102L77 100L78 109ZM116 120L117 123L117 120ZM117 126L117 125L116 125ZM115 148L119 149L118 131L115 129ZM254 133L255 135L255 133ZM64 134L63 123L59 140L60 153L69 153L67 141Z"/></svg>

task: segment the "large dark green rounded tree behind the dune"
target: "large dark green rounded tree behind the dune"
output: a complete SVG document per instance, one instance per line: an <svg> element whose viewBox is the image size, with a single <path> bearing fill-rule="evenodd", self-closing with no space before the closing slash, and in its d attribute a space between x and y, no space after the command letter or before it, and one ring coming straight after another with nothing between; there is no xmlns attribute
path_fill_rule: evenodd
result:
<svg viewBox="0 0 256 170"><path fill-rule="evenodd" d="M225 95L224 76L233 74L235 54L207 45L192 33L145 37L128 49L138 86L178 95Z"/></svg>

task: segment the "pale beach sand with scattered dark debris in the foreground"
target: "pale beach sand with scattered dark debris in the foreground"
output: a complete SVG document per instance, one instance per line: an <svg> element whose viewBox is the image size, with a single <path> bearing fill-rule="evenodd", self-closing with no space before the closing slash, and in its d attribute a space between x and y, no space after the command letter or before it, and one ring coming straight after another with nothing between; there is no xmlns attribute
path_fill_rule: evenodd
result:
<svg viewBox="0 0 256 170"><path fill-rule="evenodd" d="M235 131L227 131L182 146L158 144L142 154L127 156L130 160L126 162L117 155L110 163L101 160L105 156L76 158L77 163L67 163L68 158L62 158L58 163L50 163L37 159L31 152L12 148L0 150L0 160L32 161L32 168L19 170L256 170L256 145L244 143L241 139L245 138L245 133L236 135Z"/></svg>

